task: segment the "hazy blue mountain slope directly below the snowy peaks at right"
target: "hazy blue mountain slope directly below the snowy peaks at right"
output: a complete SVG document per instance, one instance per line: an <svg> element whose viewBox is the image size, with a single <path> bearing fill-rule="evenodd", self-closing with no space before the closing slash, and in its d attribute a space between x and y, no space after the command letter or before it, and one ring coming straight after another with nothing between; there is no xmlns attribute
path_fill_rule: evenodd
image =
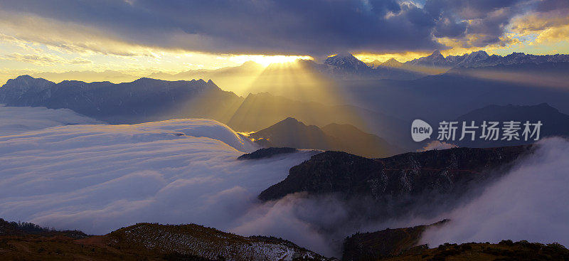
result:
<svg viewBox="0 0 569 261"><path fill-rule="evenodd" d="M569 113L569 103L566 102L569 85L550 86L547 83L548 78L496 80L445 73L418 80L344 81L342 86L359 102L359 107L390 112L393 117L410 124L413 119L449 121L488 105L536 105L546 102L562 113Z"/></svg>

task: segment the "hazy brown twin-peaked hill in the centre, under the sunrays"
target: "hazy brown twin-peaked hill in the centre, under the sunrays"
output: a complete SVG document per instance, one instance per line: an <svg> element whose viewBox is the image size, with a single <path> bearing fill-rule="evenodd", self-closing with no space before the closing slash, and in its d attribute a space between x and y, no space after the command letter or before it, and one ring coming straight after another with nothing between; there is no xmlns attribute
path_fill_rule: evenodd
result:
<svg viewBox="0 0 569 261"><path fill-rule="evenodd" d="M291 117L249 134L249 137L265 147L346 151L368 157L388 156L397 150L380 137L349 124L328 124L319 128Z"/></svg>

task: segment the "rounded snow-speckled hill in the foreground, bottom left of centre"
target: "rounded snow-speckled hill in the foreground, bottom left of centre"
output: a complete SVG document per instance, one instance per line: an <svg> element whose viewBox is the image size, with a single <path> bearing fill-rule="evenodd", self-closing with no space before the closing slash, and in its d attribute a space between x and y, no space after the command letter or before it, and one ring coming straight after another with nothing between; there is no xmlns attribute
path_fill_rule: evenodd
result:
<svg viewBox="0 0 569 261"><path fill-rule="evenodd" d="M158 225L139 223L109 234L110 245L122 248L195 255L225 260L327 260L320 255L265 237L245 238L201 225Z"/></svg>

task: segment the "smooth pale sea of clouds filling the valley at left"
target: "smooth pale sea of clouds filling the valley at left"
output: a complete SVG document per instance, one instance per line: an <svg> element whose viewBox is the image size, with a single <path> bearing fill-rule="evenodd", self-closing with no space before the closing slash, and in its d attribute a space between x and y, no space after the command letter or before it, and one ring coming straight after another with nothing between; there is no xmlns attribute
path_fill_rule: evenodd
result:
<svg viewBox="0 0 569 261"><path fill-rule="evenodd" d="M240 217L262 190L316 153L238 160L257 145L211 119L109 125L26 107L0 115L0 217L91 234L137 222L231 230L248 222Z"/></svg>

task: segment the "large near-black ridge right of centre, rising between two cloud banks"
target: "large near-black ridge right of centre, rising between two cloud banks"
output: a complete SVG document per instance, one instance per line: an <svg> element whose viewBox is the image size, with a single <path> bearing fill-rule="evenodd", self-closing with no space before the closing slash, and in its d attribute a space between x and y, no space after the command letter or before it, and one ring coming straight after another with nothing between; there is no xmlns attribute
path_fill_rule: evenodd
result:
<svg viewBox="0 0 569 261"><path fill-rule="evenodd" d="M284 181L262 191L259 198L270 201L306 192L309 196L334 194L351 202L367 199L376 202L378 211L373 213L382 218L415 207L444 208L504 174L514 160L530 152L528 146L454 148L368 159L326 151L292 167Z"/></svg>

